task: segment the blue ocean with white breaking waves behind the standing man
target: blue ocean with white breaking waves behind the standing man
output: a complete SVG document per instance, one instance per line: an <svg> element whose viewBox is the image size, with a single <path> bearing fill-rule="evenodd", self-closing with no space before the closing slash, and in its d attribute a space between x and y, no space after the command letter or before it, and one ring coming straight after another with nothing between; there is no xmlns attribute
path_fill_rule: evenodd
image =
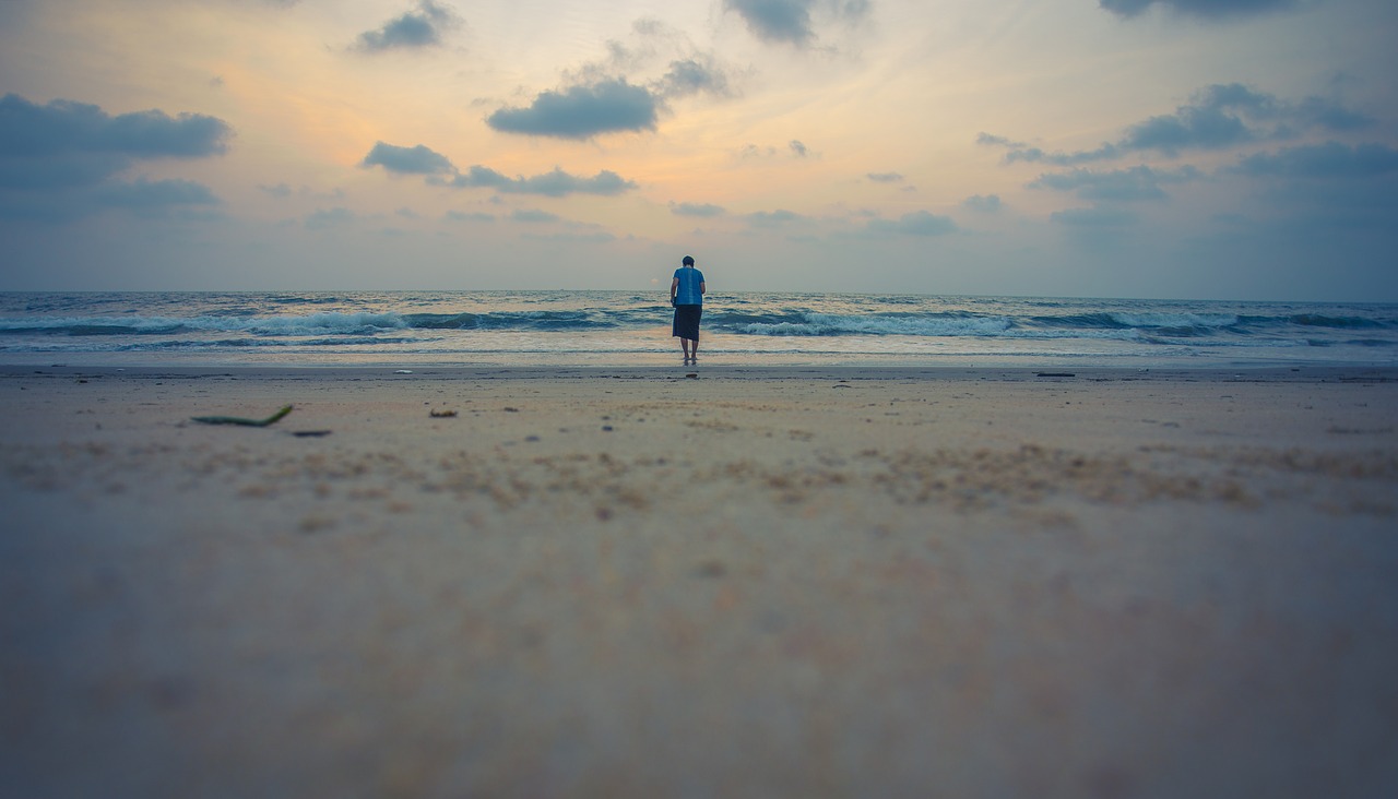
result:
<svg viewBox="0 0 1398 799"><path fill-rule="evenodd" d="M665 292L0 292L0 362L665 365ZM1398 305L712 293L700 363L1398 366Z"/></svg>

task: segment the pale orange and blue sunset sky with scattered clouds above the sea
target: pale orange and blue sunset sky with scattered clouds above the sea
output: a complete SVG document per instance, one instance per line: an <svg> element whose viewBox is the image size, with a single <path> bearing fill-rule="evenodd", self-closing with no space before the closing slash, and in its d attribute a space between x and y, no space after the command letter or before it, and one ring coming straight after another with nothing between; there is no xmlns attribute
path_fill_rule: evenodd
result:
<svg viewBox="0 0 1398 799"><path fill-rule="evenodd" d="M1391 0L0 0L0 291L1398 302Z"/></svg>

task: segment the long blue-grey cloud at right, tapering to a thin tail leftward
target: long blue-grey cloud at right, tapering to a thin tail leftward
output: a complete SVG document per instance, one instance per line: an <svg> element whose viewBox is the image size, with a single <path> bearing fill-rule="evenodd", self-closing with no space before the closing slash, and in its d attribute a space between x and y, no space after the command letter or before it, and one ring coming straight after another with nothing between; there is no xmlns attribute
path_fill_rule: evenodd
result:
<svg viewBox="0 0 1398 799"><path fill-rule="evenodd" d="M1192 149L1226 149L1258 141L1296 137L1309 130L1349 131L1373 119L1335 101L1310 96L1299 103L1258 92L1243 84L1215 84L1197 91L1174 113L1149 117L1127 127L1116 142L1078 152L1044 152L1001 135L981 133L976 141L1004 147L1007 162L1074 166L1118 158L1128 152L1155 151L1177 156Z"/></svg>

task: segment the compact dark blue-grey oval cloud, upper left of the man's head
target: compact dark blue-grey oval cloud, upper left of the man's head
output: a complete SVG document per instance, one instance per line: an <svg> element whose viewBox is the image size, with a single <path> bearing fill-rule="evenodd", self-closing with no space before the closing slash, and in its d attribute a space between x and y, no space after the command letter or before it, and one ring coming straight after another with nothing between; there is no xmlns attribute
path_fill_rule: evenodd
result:
<svg viewBox="0 0 1398 799"><path fill-rule="evenodd" d="M656 130L661 101L626 78L607 78L542 92L526 108L503 108L485 119L502 133L591 138L604 133Z"/></svg>

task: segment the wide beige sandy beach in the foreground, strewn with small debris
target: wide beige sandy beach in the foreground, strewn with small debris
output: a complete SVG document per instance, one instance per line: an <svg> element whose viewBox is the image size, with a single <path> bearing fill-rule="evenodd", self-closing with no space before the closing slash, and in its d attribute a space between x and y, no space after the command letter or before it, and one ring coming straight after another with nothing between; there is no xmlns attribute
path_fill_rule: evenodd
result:
<svg viewBox="0 0 1398 799"><path fill-rule="evenodd" d="M3 793L1394 795L1398 372L1071 372L0 367Z"/></svg>

